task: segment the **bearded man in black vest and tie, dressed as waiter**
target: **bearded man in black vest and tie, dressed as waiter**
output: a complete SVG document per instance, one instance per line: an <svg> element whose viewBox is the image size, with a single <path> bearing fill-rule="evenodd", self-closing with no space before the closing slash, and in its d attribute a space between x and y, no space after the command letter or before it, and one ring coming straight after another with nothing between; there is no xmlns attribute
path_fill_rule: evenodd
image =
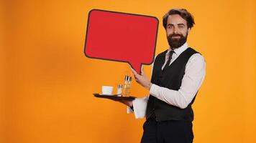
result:
<svg viewBox="0 0 256 143"><path fill-rule="evenodd" d="M204 57L186 42L195 24L186 9L170 9L163 16L163 26L170 48L154 61L151 82L144 71L135 80L150 91L150 96L122 102L134 110L136 118L146 116L142 143L193 142L193 104L204 81Z"/></svg>

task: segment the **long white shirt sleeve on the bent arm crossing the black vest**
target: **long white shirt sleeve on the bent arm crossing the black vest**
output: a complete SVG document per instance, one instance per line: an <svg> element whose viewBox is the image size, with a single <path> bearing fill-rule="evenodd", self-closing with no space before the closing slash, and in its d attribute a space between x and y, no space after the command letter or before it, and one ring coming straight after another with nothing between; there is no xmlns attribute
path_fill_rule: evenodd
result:
<svg viewBox="0 0 256 143"><path fill-rule="evenodd" d="M186 64L185 74L178 91L152 84L150 94L163 102L185 109L196 96L196 92L204 81L205 74L204 56L193 54Z"/></svg>

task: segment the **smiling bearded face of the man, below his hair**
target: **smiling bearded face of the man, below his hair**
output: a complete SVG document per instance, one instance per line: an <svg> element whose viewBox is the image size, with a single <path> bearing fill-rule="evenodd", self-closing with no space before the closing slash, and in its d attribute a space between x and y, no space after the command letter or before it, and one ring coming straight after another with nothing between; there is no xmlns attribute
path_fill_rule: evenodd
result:
<svg viewBox="0 0 256 143"><path fill-rule="evenodd" d="M187 41L188 33L187 21L178 14L168 16L166 26L166 36L172 49L177 49Z"/></svg>

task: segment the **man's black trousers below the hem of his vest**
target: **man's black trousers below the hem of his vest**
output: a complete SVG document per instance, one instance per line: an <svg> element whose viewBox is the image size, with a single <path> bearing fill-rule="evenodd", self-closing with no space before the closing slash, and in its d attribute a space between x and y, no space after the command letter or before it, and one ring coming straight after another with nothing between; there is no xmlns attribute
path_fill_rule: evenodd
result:
<svg viewBox="0 0 256 143"><path fill-rule="evenodd" d="M192 122L186 121L156 122L155 119L147 119L143 124L141 143L192 143L192 126Z"/></svg>

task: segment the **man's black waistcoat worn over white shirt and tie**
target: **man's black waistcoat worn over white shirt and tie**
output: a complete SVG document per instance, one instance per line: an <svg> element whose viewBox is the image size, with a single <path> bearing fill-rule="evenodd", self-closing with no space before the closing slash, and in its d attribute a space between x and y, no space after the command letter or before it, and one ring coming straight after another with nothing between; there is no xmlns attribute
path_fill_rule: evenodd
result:
<svg viewBox="0 0 256 143"><path fill-rule="evenodd" d="M178 91L181 86L183 75L185 74L188 59L198 52L191 48L186 49L177 59L175 59L175 61L173 61L172 64L170 64L168 69L162 71L166 52L167 50L157 55L152 71L151 82L160 87ZM183 120L191 122L193 121L193 109L191 105L195 98L196 96L193 98L192 102L188 104L188 107L180 109L179 107L167 104L150 95L147 102L146 117L148 119L154 113L157 121Z"/></svg>

